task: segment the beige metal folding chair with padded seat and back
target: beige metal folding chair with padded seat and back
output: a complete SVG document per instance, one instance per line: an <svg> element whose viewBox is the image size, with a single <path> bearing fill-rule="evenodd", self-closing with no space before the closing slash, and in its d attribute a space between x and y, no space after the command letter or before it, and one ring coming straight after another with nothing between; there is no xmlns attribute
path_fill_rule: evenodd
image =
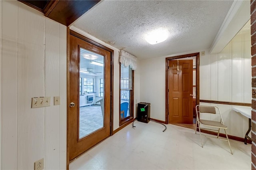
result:
<svg viewBox="0 0 256 170"><path fill-rule="evenodd" d="M198 113L200 114L201 117L202 117L202 114L214 114L216 116L218 115L217 117L220 119L220 121L210 121L210 120L199 119ZM209 128L202 128L202 127L200 127L201 125L204 125L204 126L209 127ZM196 106L196 130L197 130L197 128L199 128L202 148L203 148L203 143L202 143L201 129L217 131L218 132L217 138L219 138L220 129L221 128L224 129L224 131L226 133L226 138L227 138L226 141L228 141L228 144L229 144L229 147L230 147L230 152L231 152L231 154L233 154L231 146L230 146L230 142L228 140L228 134L226 132L226 129L228 127L226 125L224 125L223 119L222 119L222 116L221 116L221 113L220 113L220 109L218 107L216 107L216 106L206 106L206 105L197 105ZM218 128L218 130L212 129L212 128ZM206 137L211 137L211 136L206 136ZM225 139L222 139L222 140L225 140Z"/></svg>

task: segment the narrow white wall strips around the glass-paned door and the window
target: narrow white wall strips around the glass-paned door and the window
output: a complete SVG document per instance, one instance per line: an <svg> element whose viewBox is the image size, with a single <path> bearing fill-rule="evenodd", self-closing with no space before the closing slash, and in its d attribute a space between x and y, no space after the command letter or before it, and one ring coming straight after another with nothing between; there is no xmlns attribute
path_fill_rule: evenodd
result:
<svg viewBox="0 0 256 170"><path fill-rule="evenodd" d="M102 45L105 45L106 47L113 49L114 50L114 93L113 93L113 97L114 97L114 108L113 108L113 114L114 114L114 130L116 130L119 127L119 82L120 82L120 76L119 76L119 49L112 47L111 45L102 42L101 40L91 36L90 34L87 34L86 32L75 28L74 26L70 27L71 30L74 30L80 34L82 34L83 36L86 36L88 38L90 38L91 40L94 40L95 42L98 42ZM136 69L134 71L134 117L136 117L136 113L137 113L137 103L140 102L140 69Z"/></svg>

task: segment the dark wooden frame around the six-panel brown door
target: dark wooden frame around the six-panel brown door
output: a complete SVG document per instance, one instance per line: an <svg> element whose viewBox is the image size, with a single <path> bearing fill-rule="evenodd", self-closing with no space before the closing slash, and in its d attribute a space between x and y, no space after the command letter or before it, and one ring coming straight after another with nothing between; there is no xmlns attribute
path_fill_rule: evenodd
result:
<svg viewBox="0 0 256 170"><path fill-rule="evenodd" d="M180 58L187 58L187 57L196 57L196 105L199 105L199 58L200 53L191 53L191 54L185 54L185 55L178 55L173 57L166 57L165 58L165 124L169 123L169 100L168 100L168 82L169 82L169 76L168 76L168 66L169 66L169 60L173 59L180 59Z"/></svg>

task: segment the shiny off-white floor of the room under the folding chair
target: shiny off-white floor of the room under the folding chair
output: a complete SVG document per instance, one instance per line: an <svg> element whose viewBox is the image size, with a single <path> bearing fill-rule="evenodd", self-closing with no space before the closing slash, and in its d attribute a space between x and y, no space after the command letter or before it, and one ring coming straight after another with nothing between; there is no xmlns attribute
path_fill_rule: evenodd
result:
<svg viewBox="0 0 256 170"><path fill-rule="evenodd" d="M251 144L203 138L190 128L138 121L110 136L70 164L70 170L250 170ZM208 134L207 134L208 135Z"/></svg>

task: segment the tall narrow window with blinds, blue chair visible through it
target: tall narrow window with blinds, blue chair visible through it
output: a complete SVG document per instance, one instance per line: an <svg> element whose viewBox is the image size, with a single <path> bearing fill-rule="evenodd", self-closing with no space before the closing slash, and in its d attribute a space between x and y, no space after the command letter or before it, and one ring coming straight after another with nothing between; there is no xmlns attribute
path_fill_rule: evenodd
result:
<svg viewBox="0 0 256 170"><path fill-rule="evenodd" d="M123 125L127 121L133 119L133 76L132 68L124 67L120 64L120 121L119 125Z"/></svg>

